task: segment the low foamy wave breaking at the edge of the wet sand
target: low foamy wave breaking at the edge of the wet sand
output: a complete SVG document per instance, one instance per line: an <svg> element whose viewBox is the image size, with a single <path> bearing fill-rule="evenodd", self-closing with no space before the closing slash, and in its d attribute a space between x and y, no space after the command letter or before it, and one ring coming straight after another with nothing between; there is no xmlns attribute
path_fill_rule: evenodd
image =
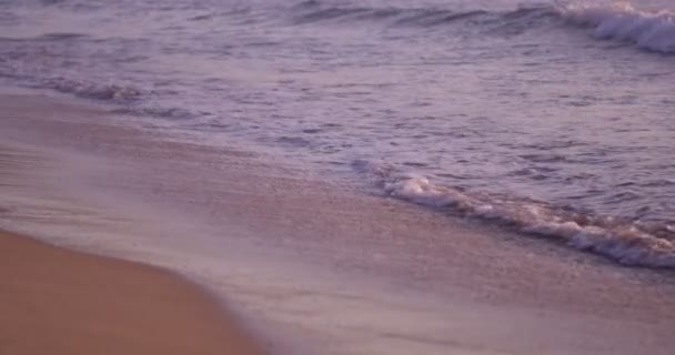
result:
<svg viewBox="0 0 675 355"><path fill-rule="evenodd" d="M675 227L575 212L543 202L434 185L426 178L355 161L391 196L516 231L561 240L623 265L675 267Z"/></svg>

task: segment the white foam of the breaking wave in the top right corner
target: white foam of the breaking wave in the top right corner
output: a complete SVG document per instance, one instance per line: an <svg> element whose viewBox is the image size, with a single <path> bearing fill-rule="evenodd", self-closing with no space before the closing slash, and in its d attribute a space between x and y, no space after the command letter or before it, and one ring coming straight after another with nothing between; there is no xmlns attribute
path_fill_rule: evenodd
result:
<svg viewBox="0 0 675 355"><path fill-rule="evenodd" d="M655 52L675 53L675 12L639 11L629 2L612 6L570 2L557 4L561 16L572 22L591 26L598 39L629 41Z"/></svg>

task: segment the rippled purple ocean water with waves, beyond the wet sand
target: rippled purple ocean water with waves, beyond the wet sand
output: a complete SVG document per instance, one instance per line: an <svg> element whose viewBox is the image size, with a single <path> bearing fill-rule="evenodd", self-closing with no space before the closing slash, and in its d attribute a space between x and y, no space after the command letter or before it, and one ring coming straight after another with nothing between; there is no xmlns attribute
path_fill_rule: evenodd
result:
<svg viewBox="0 0 675 355"><path fill-rule="evenodd" d="M0 0L0 81L675 266L669 1Z"/></svg>

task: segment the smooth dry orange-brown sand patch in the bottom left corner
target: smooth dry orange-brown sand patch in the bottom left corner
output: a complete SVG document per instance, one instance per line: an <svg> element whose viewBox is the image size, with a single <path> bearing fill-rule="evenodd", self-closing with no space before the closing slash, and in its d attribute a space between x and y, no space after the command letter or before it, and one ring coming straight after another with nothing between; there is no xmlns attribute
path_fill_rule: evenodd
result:
<svg viewBox="0 0 675 355"><path fill-rule="evenodd" d="M0 354L260 354L189 282L0 232Z"/></svg>

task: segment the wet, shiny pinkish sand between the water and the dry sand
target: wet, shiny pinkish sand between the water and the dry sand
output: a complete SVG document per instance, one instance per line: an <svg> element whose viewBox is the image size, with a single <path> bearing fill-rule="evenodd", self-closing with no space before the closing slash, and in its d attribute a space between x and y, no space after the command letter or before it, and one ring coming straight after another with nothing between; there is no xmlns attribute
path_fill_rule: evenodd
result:
<svg viewBox="0 0 675 355"><path fill-rule="evenodd" d="M260 153L131 129L105 108L33 94L0 106L3 229L178 272L272 354L671 353L667 271L340 189ZM213 332L224 322L206 320Z"/></svg>

